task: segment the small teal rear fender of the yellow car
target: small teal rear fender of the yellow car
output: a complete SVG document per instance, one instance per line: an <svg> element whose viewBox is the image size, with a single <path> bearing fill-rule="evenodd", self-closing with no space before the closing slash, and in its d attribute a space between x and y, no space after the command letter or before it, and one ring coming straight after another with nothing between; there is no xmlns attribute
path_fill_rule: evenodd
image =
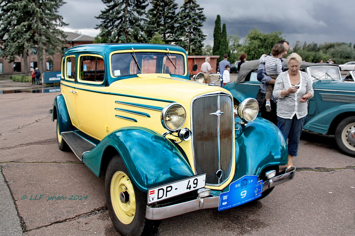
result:
<svg viewBox="0 0 355 236"><path fill-rule="evenodd" d="M58 95L54 99L52 121L55 119L58 119L59 133L73 130L63 95Z"/></svg>

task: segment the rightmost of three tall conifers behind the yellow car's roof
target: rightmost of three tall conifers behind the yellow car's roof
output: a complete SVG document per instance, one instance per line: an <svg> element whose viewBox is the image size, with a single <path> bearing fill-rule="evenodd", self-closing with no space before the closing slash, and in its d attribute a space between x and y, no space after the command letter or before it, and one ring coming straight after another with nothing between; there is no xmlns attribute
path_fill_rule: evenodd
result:
<svg viewBox="0 0 355 236"><path fill-rule="evenodd" d="M201 30L203 22L206 21L203 8L196 0L185 0L180 9L176 22L176 44L184 47L189 55L201 55L202 42L206 38Z"/></svg>

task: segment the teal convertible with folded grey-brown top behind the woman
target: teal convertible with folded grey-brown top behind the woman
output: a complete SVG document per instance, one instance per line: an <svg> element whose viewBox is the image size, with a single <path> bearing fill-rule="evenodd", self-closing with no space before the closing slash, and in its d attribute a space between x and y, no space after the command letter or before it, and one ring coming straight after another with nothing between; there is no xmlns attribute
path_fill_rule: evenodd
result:
<svg viewBox="0 0 355 236"><path fill-rule="evenodd" d="M224 86L233 95L235 106L247 97L256 97L260 88L258 67L258 60L245 62L237 81ZM340 151L355 157L355 83L342 82L335 64L302 62L300 70L312 78L315 93L308 101L303 129L335 135Z"/></svg>

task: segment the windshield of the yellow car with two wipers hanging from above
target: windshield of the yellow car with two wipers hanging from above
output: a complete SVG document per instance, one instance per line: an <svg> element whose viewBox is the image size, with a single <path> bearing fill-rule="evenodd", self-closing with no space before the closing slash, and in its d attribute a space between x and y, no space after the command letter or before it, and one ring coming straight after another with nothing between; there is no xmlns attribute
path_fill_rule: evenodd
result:
<svg viewBox="0 0 355 236"><path fill-rule="evenodd" d="M184 75L184 56L169 52L116 53L111 56L111 72L114 77L151 73Z"/></svg>

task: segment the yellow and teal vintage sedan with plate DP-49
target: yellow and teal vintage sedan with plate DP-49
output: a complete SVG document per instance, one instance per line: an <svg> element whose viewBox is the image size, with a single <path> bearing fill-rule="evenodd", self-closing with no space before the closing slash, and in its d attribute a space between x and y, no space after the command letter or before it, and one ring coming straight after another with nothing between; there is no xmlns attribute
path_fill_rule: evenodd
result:
<svg viewBox="0 0 355 236"><path fill-rule="evenodd" d="M159 44L75 46L62 57L53 103L58 146L105 173L105 197L121 235L160 219L224 210L291 180L280 131L257 117L255 99L189 79L186 51ZM203 75L203 74L202 74Z"/></svg>

